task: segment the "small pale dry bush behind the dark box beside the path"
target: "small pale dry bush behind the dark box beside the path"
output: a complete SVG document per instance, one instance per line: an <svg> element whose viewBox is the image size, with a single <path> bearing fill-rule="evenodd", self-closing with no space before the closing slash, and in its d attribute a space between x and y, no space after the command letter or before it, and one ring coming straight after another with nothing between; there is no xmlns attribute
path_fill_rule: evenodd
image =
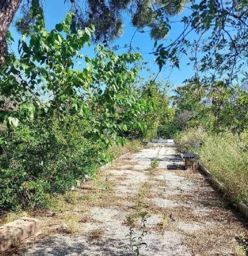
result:
<svg viewBox="0 0 248 256"><path fill-rule="evenodd" d="M180 152L199 154L200 147L206 138L206 131L199 126L180 132L175 138L175 145Z"/></svg>

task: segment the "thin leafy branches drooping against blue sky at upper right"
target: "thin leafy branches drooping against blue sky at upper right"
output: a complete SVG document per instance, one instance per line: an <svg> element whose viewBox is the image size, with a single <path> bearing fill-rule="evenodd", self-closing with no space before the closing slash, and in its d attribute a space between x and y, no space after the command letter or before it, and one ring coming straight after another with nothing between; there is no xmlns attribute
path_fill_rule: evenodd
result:
<svg viewBox="0 0 248 256"><path fill-rule="evenodd" d="M189 1L184 29L172 42L157 46L159 68L169 63L179 67L180 56L189 55L196 76L207 82L225 79L227 85L247 79L247 1ZM169 23L169 21L168 21Z"/></svg>

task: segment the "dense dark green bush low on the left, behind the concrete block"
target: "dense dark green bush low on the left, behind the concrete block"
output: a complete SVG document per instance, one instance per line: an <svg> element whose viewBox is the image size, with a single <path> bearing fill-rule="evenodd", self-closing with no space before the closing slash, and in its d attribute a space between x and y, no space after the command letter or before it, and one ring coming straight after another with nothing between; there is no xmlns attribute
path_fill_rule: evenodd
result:
<svg viewBox="0 0 248 256"><path fill-rule="evenodd" d="M87 125L88 124L88 125ZM64 193L104 163L104 145L87 139L89 122L68 115L63 121L37 117L12 131L3 144L0 208L47 207L50 193Z"/></svg>

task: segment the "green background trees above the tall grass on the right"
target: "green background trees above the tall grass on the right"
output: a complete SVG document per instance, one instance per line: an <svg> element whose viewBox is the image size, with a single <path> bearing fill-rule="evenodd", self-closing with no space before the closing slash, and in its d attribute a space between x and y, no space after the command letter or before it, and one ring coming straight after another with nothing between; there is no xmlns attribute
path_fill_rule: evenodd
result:
<svg viewBox="0 0 248 256"><path fill-rule="evenodd" d="M248 93L238 86L193 80L175 93L175 121L181 130L202 125L209 132L240 133L248 127Z"/></svg>

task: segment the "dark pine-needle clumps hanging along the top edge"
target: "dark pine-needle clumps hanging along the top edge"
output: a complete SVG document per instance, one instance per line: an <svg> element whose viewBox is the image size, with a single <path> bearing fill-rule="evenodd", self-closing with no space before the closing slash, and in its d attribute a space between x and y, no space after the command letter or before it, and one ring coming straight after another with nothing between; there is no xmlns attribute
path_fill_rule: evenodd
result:
<svg viewBox="0 0 248 256"><path fill-rule="evenodd" d="M178 14L186 0L61 0L61 4L70 3L75 13L75 21L80 28L95 26L95 42L112 42L123 33L124 18L128 15L131 23L140 32L150 28L152 38L161 39L169 32L166 22L169 16ZM37 13L42 12L42 0L25 0L22 5L23 17L17 22L20 31L24 31L33 22ZM29 11L31 10L31 11ZM165 19L165 20L164 20Z"/></svg>

